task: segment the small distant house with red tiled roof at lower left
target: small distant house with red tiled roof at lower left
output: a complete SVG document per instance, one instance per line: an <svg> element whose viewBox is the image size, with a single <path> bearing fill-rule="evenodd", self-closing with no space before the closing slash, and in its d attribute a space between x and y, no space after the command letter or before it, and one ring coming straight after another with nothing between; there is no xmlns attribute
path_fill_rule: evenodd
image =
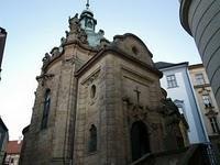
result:
<svg viewBox="0 0 220 165"><path fill-rule="evenodd" d="M22 141L9 141L4 165L19 165Z"/></svg>

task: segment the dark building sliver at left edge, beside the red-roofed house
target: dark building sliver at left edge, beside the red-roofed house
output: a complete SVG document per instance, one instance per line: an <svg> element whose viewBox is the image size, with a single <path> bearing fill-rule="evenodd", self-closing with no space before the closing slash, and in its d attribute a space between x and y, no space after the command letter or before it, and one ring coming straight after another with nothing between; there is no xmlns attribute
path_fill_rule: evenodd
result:
<svg viewBox="0 0 220 165"><path fill-rule="evenodd" d="M6 157L7 143L9 141L9 133L6 124L0 118L0 164L3 164L3 160Z"/></svg>

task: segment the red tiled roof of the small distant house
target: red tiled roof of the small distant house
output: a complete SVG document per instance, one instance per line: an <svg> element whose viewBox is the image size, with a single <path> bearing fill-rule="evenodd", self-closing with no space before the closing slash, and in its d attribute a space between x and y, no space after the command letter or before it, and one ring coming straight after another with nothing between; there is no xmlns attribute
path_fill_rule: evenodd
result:
<svg viewBox="0 0 220 165"><path fill-rule="evenodd" d="M7 145L7 154L20 154L23 141L9 141Z"/></svg>

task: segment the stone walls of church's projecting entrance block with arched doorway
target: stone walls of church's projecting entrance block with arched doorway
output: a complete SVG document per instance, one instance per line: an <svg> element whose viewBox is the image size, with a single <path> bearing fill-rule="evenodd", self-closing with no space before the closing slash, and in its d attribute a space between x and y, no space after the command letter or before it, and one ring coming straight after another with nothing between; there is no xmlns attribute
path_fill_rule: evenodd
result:
<svg viewBox="0 0 220 165"><path fill-rule="evenodd" d="M163 119L156 112L162 97L160 77L119 56L105 55L79 76L74 144L77 165L131 163L130 131L135 121L147 125L152 152L164 147ZM136 88L141 91L139 102ZM138 105L142 109L134 110ZM89 129L92 124L98 131L97 151L89 153Z"/></svg>

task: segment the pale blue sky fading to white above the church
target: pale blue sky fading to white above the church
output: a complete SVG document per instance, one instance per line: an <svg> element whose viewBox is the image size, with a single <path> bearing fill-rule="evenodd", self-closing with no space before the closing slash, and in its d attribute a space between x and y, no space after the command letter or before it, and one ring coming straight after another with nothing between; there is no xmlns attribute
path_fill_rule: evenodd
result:
<svg viewBox="0 0 220 165"><path fill-rule="evenodd" d="M81 13L86 0L4 0L0 26L8 32L0 81L0 116L10 140L30 124L42 58L68 30L68 16ZM195 42L179 22L178 0L90 0L97 28L112 41L117 34L138 35L154 62L201 63Z"/></svg>

